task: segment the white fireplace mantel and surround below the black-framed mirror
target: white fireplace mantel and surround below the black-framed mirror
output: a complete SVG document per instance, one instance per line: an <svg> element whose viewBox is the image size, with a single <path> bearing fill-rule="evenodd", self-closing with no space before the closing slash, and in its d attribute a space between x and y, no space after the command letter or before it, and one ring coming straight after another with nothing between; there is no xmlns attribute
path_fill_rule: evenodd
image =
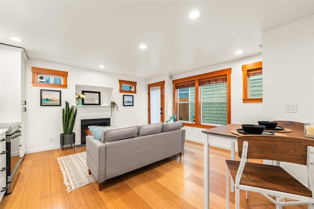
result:
<svg viewBox="0 0 314 209"><path fill-rule="evenodd" d="M113 122L110 105L73 105L73 107L78 110L75 120L76 145L81 144L80 121L82 119L110 118L110 122Z"/></svg>

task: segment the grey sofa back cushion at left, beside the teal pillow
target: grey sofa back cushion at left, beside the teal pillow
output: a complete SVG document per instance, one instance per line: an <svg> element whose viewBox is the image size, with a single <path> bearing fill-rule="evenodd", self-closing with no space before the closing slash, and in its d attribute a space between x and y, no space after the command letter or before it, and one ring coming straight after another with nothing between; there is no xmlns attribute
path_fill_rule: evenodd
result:
<svg viewBox="0 0 314 209"><path fill-rule="evenodd" d="M129 139L138 136L138 126L126 128L104 129L102 142L116 141L121 139Z"/></svg>

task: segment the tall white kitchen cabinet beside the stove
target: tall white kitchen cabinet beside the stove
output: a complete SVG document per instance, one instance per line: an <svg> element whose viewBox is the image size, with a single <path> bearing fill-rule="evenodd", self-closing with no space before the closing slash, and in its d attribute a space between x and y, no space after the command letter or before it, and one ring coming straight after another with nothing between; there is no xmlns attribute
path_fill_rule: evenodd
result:
<svg viewBox="0 0 314 209"><path fill-rule="evenodd" d="M0 122L21 122L20 157L26 152L26 99L24 48L0 45Z"/></svg>

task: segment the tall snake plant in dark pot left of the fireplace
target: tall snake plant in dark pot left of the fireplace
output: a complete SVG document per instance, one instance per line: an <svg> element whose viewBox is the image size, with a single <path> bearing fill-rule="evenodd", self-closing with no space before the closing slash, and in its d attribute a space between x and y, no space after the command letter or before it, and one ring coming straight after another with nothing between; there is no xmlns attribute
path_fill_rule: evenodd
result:
<svg viewBox="0 0 314 209"><path fill-rule="evenodd" d="M75 143L75 133L73 133L73 127L75 118L77 116L77 109L73 106L69 107L69 102L65 101L65 107L62 109L62 126L63 134L60 134L60 145L63 150L65 144Z"/></svg>

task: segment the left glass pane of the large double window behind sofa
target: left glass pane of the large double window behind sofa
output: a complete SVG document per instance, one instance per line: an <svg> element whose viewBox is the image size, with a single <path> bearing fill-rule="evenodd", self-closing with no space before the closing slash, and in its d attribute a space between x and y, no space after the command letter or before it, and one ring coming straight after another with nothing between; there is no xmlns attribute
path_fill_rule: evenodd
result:
<svg viewBox="0 0 314 209"><path fill-rule="evenodd" d="M195 121L195 87L178 89L178 119Z"/></svg>

